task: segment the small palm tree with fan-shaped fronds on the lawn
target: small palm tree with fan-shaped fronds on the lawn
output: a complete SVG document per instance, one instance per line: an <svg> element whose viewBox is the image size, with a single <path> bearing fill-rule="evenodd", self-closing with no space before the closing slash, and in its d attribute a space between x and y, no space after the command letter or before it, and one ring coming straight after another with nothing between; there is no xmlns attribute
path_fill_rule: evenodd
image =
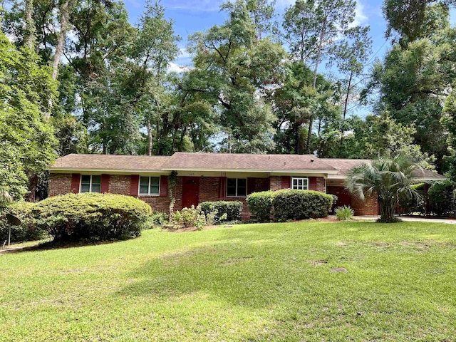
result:
<svg viewBox="0 0 456 342"><path fill-rule="evenodd" d="M412 188L419 170L421 167L407 157L380 157L353 167L348 172L345 187L353 197L361 201L377 194L380 209L378 222L397 222L399 219L394 214L399 195L417 201L420 199L418 192Z"/></svg>

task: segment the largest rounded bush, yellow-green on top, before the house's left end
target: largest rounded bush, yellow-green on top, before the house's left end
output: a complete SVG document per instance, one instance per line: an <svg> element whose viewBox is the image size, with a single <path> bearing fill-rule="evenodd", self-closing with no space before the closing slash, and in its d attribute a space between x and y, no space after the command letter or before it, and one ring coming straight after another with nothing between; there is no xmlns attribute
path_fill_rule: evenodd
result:
<svg viewBox="0 0 456 342"><path fill-rule="evenodd" d="M135 197L110 194L67 194L38 202L37 227L54 239L78 241L138 237L152 214Z"/></svg>

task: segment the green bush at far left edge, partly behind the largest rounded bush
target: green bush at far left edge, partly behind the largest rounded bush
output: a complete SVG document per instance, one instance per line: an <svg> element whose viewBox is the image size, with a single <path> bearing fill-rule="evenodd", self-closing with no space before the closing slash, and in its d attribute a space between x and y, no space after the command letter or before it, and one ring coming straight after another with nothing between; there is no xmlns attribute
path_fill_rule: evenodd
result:
<svg viewBox="0 0 456 342"><path fill-rule="evenodd" d="M16 202L0 212L0 243L8 240L9 224L6 213L9 212L21 220L20 226L11 226L11 242L24 242L42 239L46 233L36 227L36 219L33 214L35 203Z"/></svg>

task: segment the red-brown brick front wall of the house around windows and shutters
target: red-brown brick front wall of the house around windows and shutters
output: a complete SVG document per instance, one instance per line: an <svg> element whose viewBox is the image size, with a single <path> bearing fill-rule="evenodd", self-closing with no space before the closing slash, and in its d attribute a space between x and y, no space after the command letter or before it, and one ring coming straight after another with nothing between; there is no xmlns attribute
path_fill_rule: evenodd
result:
<svg viewBox="0 0 456 342"><path fill-rule="evenodd" d="M76 175L77 177L77 175ZM72 174L53 174L50 175L49 181L49 197L56 195L64 195L68 192L71 192L71 182L73 175ZM110 175L107 177L108 185L106 188L111 194L118 195L131 195L132 182L137 182L134 180L132 175ZM138 178L138 176L135 176ZM247 192L259 191L259 190L281 190L282 188L288 188L290 185L290 177L288 176L271 176L269 178L249 178ZM312 181L311 178L314 178ZM243 204L242 219L247 220L250 218L249 209L247 207L247 202L245 197L227 197L227 187L226 183L227 177L200 177L199 178L199 202L207 201L239 201ZM326 192L326 182L323 177L309 177L309 185L312 184L313 187L316 187L314 190L320 192ZM183 177L177 176L176 185L172 189L172 192L175 196L175 210L182 209L182 185ZM136 187L137 183L133 185ZM254 189L250 189L254 187ZM266 189L264 189L266 188ZM79 189L76 190L78 192ZM153 210L160 212L168 212L170 207L170 197L169 196L144 196L144 195L135 195L142 201L150 204Z"/></svg>

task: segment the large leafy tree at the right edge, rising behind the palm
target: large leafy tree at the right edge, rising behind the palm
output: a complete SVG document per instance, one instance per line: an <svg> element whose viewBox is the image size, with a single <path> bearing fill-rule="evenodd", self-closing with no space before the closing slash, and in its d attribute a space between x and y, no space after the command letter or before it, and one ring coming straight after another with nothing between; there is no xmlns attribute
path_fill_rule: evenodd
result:
<svg viewBox="0 0 456 342"><path fill-rule="evenodd" d="M435 15L438 30L405 46L396 44L384 63L377 63L368 92L379 90L377 110L390 112L403 125L414 124L414 143L423 152L435 155L437 170L445 171L447 133L440 123L443 103L455 78L456 53L448 13L440 5L427 9ZM371 87L371 88L369 88Z"/></svg>

